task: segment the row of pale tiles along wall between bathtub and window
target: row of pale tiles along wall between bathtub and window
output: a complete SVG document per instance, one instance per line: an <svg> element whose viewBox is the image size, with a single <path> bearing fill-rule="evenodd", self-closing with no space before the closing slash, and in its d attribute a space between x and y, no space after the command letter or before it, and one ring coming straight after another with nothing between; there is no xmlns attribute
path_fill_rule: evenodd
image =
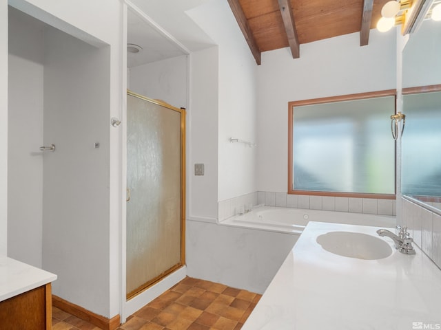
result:
<svg viewBox="0 0 441 330"><path fill-rule="evenodd" d="M353 197L330 197L315 195L289 195L286 192L252 192L247 195L218 202L218 221L239 213L249 206L277 206L280 208L302 208L366 214L396 215L395 199L373 199Z"/></svg>

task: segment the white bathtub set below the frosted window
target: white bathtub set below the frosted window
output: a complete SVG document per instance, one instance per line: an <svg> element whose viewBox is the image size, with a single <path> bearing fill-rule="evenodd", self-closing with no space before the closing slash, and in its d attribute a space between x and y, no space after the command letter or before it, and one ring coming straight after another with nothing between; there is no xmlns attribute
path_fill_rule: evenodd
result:
<svg viewBox="0 0 441 330"><path fill-rule="evenodd" d="M271 206L259 206L243 215L236 215L219 223L300 235L308 221L373 225L384 228L394 228L396 226L396 217L389 215L305 210L302 208L275 208Z"/></svg>

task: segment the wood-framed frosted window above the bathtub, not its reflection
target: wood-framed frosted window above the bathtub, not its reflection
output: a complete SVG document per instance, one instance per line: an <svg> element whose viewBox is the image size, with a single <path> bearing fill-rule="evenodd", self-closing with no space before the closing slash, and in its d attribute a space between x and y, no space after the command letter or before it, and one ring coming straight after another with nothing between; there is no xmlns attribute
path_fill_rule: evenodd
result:
<svg viewBox="0 0 441 330"><path fill-rule="evenodd" d="M395 198L396 91L289 102L289 188L298 195Z"/></svg>

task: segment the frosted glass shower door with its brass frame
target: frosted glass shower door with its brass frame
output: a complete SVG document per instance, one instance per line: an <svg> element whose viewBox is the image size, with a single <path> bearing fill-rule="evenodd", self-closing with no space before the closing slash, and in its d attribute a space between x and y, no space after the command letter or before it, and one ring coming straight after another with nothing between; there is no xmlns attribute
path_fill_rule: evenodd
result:
<svg viewBox="0 0 441 330"><path fill-rule="evenodd" d="M127 299L185 264L185 109L127 91Z"/></svg>

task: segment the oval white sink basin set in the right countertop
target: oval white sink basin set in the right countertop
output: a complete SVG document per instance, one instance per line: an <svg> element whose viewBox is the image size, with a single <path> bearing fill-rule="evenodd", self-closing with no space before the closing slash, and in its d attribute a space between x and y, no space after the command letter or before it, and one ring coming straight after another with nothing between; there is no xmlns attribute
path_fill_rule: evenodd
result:
<svg viewBox="0 0 441 330"><path fill-rule="evenodd" d="M317 237L317 243L328 252L351 258L376 260L392 254L391 245L360 232L327 232Z"/></svg>

